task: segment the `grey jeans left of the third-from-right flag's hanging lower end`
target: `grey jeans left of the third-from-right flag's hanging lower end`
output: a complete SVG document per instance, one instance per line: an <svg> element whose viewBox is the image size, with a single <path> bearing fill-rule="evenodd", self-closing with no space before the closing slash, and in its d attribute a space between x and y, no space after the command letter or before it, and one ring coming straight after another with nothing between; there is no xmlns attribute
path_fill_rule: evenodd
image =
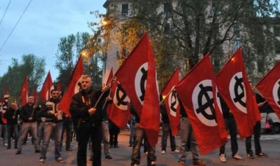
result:
<svg viewBox="0 0 280 166"><path fill-rule="evenodd" d="M192 131L192 126L189 122L189 118L181 118L180 120L180 153L179 153L179 163L185 163L187 156L187 139L191 138L191 147L192 160L199 160L198 150L196 145L196 140L194 138L194 133Z"/></svg>

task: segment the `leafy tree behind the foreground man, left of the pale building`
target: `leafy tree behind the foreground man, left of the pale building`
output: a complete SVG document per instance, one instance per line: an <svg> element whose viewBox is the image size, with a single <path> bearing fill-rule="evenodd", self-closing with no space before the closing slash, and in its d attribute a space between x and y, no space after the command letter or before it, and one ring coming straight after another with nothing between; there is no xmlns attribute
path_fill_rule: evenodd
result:
<svg viewBox="0 0 280 166"><path fill-rule="evenodd" d="M55 67L59 70L58 81L62 82L62 89L66 89L66 86L73 73L77 59L80 57L82 50L85 51L84 56L84 68L87 74L93 76L94 87L100 87L100 67L97 63L100 61L99 57L93 57L93 54L88 50L88 39L90 35L88 33L77 33L77 35L68 35L68 37L62 37L58 44L57 61ZM97 86L98 85L98 86Z"/></svg>

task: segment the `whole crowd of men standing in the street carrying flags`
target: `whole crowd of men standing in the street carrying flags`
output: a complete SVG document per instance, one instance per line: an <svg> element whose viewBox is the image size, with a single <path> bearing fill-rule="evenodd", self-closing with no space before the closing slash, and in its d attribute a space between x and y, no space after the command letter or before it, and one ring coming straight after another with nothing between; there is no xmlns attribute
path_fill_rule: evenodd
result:
<svg viewBox="0 0 280 166"><path fill-rule="evenodd" d="M66 151L73 151L71 149L71 139L73 138L73 131L75 131L77 138L77 165L86 166L86 151L88 142L91 142L91 160L92 165L102 165L102 141L104 142L104 153L107 159L112 157L109 154L110 147L118 148L118 133L119 129L115 129L115 125L111 124L116 130L110 131L110 141L108 138L109 129L108 121L106 119L106 111L104 111L104 103L109 101L109 87L103 86L102 89L94 91L92 86L93 80L89 75L83 75L81 80L81 91L73 96L70 105L71 116L66 115L57 108L60 101L59 91L53 89L50 91L50 99L41 106L37 105L34 96L28 97L28 103L21 108L17 106L16 102L10 100L9 95L4 96L3 104L1 105L1 114L3 115L0 120L0 133L2 136L2 144L7 146L7 149L12 148L12 139L15 140L14 148L17 149L17 155L22 154L24 151L24 143L28 133L32 136L32 143L35 147L35 153L40 153L39 164L44 164L46 160L46 153L50 139L55 141L55 160L59 163L64 162L64 158L60 152L62 151L62 139L64 132L66 134ZM257 96L259 107L262 107L265 101ZM100 104L96 104L100 102ZM193 165L206 165L205 162L200 160L198 155L198 148L196 139L192 131L192 126L189 122L186 111L183 106L180 107L180 148L176 149L175 137L170 134L169 120L164 106L160 106L162 114L162 151L165 154L167 151L167 136L170 136L171 152L179 153L178 165L185 165L187 151L191 151ZM231 145L232 145L232 158L235 160L243 160L237 153L238 145L236 142L237 129L234 117L230 110L222 102L223 116L227 129L230 131ZM132 147L131 165L140 165L140 148L144 140L144 152L147 153L147 165L156 165L155 146L149 145L147 136L144 129L138 124L140 117L133 109L133 104L130 106L131 111L131 124L133 124L133 131L131 131L131 139L129 145ZM104 113L105 112L105 113ZM261 151L259 142L259 123L254 128L254 143L255 154L259 157L268 157ZM188 143L189 142L189 143ZM107 145L108 147L105 147ZM251 145L251 137L246 138L246 150L248 158L253 159L253 151ZM221 163L226 163L225 146L220 149Z"/></svg>

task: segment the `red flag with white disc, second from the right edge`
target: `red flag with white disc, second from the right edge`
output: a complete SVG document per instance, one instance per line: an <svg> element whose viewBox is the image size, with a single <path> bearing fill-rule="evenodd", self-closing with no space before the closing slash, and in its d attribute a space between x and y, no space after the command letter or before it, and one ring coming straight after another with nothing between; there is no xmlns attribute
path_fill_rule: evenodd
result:
<svg viewBox="0 0 280 166"><path fill-rule="evenodd" d="M261 120L261 114L245 73L241 48L218 73L216 83L234 115L239 135L241 138L251 136L254 124Z"/></svg>

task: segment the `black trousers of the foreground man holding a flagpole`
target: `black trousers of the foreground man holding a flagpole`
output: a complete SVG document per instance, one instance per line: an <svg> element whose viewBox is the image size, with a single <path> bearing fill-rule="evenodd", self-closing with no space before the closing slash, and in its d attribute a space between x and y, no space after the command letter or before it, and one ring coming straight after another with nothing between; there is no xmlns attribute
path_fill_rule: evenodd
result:
<svg viewBox="0 0 280 166"><path fill-rule="evenodd" d="M88 139L91 138L94 166L101 165L102 125L93 126L91 122L80 122L77 128L77 165L86 166L86 148Z"/></svg>

